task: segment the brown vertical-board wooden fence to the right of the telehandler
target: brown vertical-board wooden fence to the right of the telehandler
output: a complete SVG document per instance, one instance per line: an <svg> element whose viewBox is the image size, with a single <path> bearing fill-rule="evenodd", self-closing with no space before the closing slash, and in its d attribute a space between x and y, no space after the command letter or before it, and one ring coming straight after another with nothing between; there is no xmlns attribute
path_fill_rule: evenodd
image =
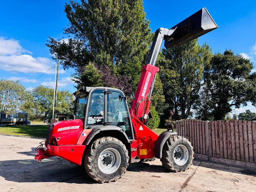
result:
<svg viewBox="0 0 256 192"><path fill-rule="evenodd" d="M178 135L187 138L195 157L256 169L256 123L245 120L176 121Z"/></svg>

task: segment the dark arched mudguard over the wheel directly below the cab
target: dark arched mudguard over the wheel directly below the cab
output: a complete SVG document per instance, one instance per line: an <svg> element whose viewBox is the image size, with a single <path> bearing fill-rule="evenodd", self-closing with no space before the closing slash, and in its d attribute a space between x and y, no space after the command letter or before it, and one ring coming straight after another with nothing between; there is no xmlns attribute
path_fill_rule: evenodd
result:
<svg viewBox="0 0 256 192"><path fill-rule="evenodd" d="M85 145L89 145L91 140L94 138L94 136L97 135L98 133L102 132L102 131L118 131L122 135L124 135L124 140L129 143L129 139L128 139L127 135L125 134L125 132L124 132L124 130L122 128L117 127L117 126L104 126L104 125L100 125L100 126L94 126L92 128L92 131L90 132L88 137L86 137L86 139L84 141L84 144Z"/></svg>

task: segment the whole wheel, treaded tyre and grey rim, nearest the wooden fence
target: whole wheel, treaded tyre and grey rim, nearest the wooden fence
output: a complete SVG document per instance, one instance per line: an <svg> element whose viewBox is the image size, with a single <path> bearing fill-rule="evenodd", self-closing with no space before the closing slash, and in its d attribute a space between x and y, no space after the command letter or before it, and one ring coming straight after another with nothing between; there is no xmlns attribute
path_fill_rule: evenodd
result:
<svg viewBox="0 0 256 192"><path fill-rule="evenodd" d="M175 135L165 142L160 160L169 171L181 172L189 169L193 155L193 147L188 139Z"/></svg>

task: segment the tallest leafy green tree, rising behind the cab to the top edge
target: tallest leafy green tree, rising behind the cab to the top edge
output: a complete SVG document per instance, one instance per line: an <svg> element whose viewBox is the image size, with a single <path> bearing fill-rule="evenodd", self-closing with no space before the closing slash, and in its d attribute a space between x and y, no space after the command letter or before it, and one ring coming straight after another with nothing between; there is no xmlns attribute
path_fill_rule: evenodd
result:
<svg viewBox="0 0 256 192"><path fill-rule="evenodd" d="M68 42L50 37L47 46L63 68L76 75L89 62L107 65L113 74L128 75L137 85L152 40L142 0L81 0L65 5Z"/></svg>

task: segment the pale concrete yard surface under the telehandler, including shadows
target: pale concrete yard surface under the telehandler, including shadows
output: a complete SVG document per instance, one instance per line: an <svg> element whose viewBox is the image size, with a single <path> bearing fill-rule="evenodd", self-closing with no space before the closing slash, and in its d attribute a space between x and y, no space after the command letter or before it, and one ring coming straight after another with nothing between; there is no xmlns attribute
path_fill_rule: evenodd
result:
<svg viewBox="0 0 256 192"><path fill-rule="evenodd" d="M0 135L0 191L256 191L256 171L194 160L168 172L159 159L131 164L116 182L99 184L59 157L34 159L42 140Z"/></svg>

